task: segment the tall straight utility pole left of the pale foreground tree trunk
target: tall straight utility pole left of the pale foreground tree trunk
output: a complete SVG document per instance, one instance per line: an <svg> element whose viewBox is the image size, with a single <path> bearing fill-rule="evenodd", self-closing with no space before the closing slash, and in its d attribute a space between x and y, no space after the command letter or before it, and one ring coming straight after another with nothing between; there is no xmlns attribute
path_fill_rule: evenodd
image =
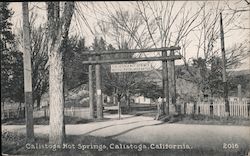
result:
<svg viewBox="0 0 250 156"><path fill-rule="evenodd" d="M23 10L23 69L24 69L24 96L25 96L25 118L26 118L26 141L34 140L33 125L33 99L32 99L32 68L30 48L30 26L28 2L22 3Z"/></svg>

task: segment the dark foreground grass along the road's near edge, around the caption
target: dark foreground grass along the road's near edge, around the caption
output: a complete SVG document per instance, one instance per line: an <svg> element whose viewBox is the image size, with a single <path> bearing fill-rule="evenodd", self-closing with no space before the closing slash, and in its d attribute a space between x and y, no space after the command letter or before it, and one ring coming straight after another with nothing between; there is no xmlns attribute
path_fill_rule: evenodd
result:
<svg viewBox="0 0 250 156"><path fill-rule="evenodd" d="M105 137L94 137L94 136L67 136L65 140L65 144L67 144L66 149L62 148L53 148L52 149L29 149L29 144L39 144L45 145L48 144L48 136L39 136L35 138L33 143L26 143L25 136L21 134L15 134L11 132L5 132L2 135L2 154L9 155L58 155L58 156L222 156L222 155L245 155L247 153L246 150L241 151L223 151L223 150L214 150L214 149L186 149L186 150L152 150L148 149L150 147L149 144L133 144L139 147L139 145L145 145L145 149L110 149L111 144L125 144L123 142L119 142L112 138ZM80 144L80 146L79 146ZM100 150L101 148L95 149L85 149L82 150L83 145L97 145L98 147L103 147L104 145L107 147L106 149ZM71 146L69 146L71 145ZM75 149L73 149L75 146ZM65 146L66 147L66 146ZM72 147L72 148L69 148ZM98 150L99 149L99 150Z"/></svg>

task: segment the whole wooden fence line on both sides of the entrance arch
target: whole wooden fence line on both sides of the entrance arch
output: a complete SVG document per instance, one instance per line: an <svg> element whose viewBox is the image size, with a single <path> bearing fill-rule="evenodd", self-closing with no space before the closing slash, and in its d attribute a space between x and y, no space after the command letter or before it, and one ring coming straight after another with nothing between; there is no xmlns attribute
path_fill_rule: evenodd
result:
<svg viewBox="0 0 250 156"><path fill-rule="evenodd" d="M230 116L239 117L239 118L250 118L250 103L249 100L230 100ZM197 102L186 103L181 105L182 114L203 114L209 116L220 116L223 117L225 113L225 104L223 99L215 99L213 103L209 102ZM80 117L80 118L89 118L89 109L82 107L71 107L64 109L65 116L71 117ZM24 118L25 110L24 107L19 109L7 109L1 110L1 119L10 119L10 118ZM34 110L34 118L39 117L49 117L49 109L42 108L40 110Z"/></svg>

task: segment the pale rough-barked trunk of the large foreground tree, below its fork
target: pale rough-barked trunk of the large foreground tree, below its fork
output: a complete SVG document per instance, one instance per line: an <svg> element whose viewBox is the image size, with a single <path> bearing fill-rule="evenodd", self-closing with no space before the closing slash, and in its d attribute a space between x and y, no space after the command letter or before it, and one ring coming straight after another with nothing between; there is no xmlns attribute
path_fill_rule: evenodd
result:
<svg viewBox="0 0 250 156"><path fill-rule="evenodd" d="M50 144L62 144L64 140L64 89L63 57L59 48L50 55L49 109L50 109Z"/></svg>

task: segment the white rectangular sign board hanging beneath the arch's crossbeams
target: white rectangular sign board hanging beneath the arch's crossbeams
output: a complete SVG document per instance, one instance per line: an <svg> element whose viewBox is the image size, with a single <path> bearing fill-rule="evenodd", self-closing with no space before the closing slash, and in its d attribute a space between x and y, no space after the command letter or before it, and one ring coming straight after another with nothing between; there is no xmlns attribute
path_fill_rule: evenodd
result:
<svg viewBox="0 0 250 156"><path fill-rule="evenodd" d="M152 70L149 63L137 63L137 64L112 64L111 73L119 72L138 72L138 71L150 71Z"/></svg>

